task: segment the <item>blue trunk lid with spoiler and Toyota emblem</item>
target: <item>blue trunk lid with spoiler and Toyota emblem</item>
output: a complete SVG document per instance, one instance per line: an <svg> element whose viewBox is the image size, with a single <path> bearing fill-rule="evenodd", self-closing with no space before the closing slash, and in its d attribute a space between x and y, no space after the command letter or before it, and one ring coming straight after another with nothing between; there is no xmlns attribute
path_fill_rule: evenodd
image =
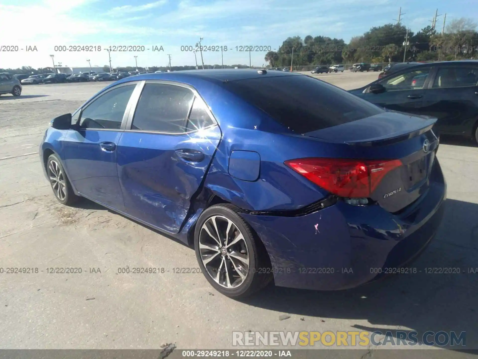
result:
<svg viewBox="0 0 478 359"><path fill-rule="evenodd" d="M429 187L438 138L436 118L401 112L383 112L361 120L304 135L345 145L341 157L364 160L400 160L373 189L370 198L391 213L402 211ZM385 167L384 167L385 168ZM380 171L380 168L372 169Z"/></svg>

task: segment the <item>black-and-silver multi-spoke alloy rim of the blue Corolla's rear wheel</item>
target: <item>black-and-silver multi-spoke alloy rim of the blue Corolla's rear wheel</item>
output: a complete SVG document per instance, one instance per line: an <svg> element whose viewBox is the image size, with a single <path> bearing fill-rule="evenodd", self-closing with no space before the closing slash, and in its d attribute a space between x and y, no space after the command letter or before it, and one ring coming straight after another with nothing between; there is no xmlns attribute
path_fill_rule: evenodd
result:
<svg viewBox="0 0 478 359"><path fill-rule="evenodd" d="M237 288L249 272L249 250L238 226L230 219L209 217L199 233L199 253L211 278L224 288Z"/></svg>

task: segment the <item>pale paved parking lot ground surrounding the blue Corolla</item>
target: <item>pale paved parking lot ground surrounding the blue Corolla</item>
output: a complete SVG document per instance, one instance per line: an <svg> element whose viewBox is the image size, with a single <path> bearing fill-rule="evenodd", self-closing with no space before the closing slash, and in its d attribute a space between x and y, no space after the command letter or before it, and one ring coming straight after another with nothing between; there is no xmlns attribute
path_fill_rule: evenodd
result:
<svg viewBox="0 0 478 359"><path fill-rule="evenodd" d="M317 77L348 90L377 73ZM202 274L173 273L197 267L193 249L95 203L56 202L37 154L43 133L52 118L108 84L32 85L20 98L0 97L0 268L39 269L0 274L0 348L232 348L232 330L466 331L467 348L478 348L478 147L453 138L440 145L448 199L441 229L413 263L421 272L344 292L269 286L239 302L215 292ZM165 272L118 273L127 266ZM51 267L83 271L47 274ZM426 274L428 267L461 273Z"/></svg>

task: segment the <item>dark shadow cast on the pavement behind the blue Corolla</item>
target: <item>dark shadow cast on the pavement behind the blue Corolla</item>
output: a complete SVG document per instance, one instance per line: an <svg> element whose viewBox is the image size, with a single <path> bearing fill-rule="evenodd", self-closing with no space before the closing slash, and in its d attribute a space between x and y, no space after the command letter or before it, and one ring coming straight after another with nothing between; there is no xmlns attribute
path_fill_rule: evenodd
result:
<svg viewBox="0 0 478 359"><path fill-rule="evenodd" d="M323 320L367 320L360 330L466 331L467 349L478 348L478 204L448 199L442 226L432 244L399 274L353 290L315 292L267 287L245 303L279 313ZM427 274L425 268L459 268L459 274ZM469 270L475 273L468 273ZM305 319L307 320L307 319ZM344 328L344 330L350 330ZM431 337L433 338L433 337ZM430 339L430 337L429 337ZM460 349L460 348L453 348ZM463 349L463 347L461 347Z"/></svg>

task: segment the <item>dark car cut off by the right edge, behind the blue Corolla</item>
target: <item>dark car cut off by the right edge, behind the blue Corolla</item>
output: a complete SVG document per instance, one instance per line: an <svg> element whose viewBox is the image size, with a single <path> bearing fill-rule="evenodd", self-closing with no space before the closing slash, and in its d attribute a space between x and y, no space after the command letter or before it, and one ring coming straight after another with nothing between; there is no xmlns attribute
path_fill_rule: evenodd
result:
<svg viewBox="0 0 478 359"><path fill-rule="evenodd" d="M437 134L478 143L477 60L408 65L350 92L391 110L436 117Z"/></svg>

